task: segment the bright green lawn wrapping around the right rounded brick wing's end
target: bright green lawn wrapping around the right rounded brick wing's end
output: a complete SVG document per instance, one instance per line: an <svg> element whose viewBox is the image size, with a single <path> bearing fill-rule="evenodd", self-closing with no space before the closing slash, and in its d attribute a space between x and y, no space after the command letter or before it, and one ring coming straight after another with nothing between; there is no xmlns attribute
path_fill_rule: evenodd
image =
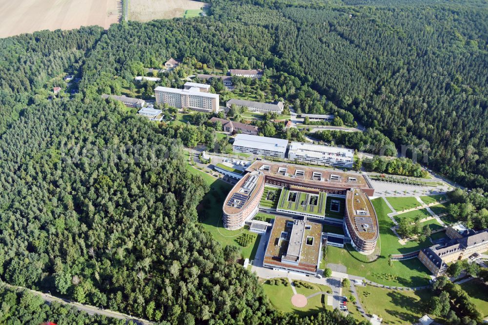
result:
<svg viewBox="0 0 488 325"><path fill-rule="evenodd" d="M388 255L409 253L430 246L430 241L428 239L422 243L410 241L401 245L390 229L393 222L387 216L390 209L386 202L382 198L378 198L372 200L372 203L380 225L380 241L378 242L381 247L380 257L374 262L369 262L370 256L362 255L350 246L349 251L346 248L327 246L326 263L342 264L347 267L347 273L364 276L366 279L380 284L395 286L426 285L430 272L418 259L393 261L393 266L390 266Z"/></svg>

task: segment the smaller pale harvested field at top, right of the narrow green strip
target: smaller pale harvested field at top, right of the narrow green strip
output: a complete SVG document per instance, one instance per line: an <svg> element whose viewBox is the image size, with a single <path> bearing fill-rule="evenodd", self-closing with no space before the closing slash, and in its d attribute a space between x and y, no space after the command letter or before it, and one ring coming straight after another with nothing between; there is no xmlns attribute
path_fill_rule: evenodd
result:
<svg viewBox="0 0 488 325"><path fill-rule="evenodd" d="M186 10L206 3L192 0L129 0L129 20L150 21L183 17Z"/></svg>

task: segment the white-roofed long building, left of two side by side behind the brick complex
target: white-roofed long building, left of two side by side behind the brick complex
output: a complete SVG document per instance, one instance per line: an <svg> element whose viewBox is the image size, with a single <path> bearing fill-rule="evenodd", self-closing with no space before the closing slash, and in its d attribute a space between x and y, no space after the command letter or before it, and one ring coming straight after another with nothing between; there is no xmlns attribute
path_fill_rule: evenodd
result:
<svg viewBox="0 0 488 325"><path fill-rule="evenodd" d="M232 145L235 152L243 152L267 157L285 158L288 140L238 134Z"/></svg>

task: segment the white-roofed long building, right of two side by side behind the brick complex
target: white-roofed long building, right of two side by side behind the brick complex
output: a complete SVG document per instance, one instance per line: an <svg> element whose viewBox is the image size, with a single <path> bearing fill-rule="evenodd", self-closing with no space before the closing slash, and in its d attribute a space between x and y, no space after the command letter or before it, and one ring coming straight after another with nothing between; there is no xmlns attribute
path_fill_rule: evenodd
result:
<svg viewBox="0 0 488 325"><path fill-rule="evenodd" d="M354 151L320 144L291 142L288 159L318 165L335 165L352 168Z"/></svg>

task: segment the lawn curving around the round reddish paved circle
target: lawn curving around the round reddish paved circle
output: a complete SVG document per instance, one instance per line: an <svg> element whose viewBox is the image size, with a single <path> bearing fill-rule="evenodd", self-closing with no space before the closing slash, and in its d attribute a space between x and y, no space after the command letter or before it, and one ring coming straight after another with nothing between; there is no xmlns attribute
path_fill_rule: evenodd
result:
<svg viewBox="0 0 488 325"><path fill-rule="evenodd" d="M286 282L287 279L284 279ZM275 281L275 280L274 280ZM324 286L325 287L325 286ZM269 298L269 302L274 308L283 312L294 312L301 316L313 315L324 308L331 310L330 306L324 306L322 304L322 295L317 295L308 300L307 305L303 308L295 307L291 304L291 297L293 296L293 290L291 285L284 285L279 282L279 284L269 284L269 280L263 284L264 292ZM297 293L300 288L297 288ZM325 301L326 305L326 301Z"/></svg>

